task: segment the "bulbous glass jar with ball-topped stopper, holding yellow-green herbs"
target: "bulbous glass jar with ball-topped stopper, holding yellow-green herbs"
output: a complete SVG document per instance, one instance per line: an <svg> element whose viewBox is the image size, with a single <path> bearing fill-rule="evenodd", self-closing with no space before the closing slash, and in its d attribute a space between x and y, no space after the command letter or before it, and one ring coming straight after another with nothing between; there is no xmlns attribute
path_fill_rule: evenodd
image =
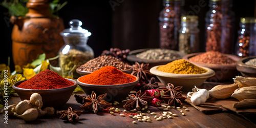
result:
<svg viewBox="0 0 256 128"><path fill-rule="evenodd" d="M65 45L59 50L59 65L62 76L73 75L74 78L78 78L80 75L76 73L76 68L94 58L92 48L87 45L91 32L81 28L82 22L78 19L70 20L69 25L69 29L60 33Z"/></svg>

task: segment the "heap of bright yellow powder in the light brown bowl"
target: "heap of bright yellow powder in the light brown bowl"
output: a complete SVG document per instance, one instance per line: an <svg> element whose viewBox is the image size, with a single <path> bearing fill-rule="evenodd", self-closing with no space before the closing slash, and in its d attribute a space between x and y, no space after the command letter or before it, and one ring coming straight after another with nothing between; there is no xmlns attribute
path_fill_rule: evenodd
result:
<svg viewBox="0 0 256 128"><path fill-rule="evenodd" d="M176 74L200 74L207 72L207 70L193 65L184 59L178 59L173 62L169 62L164 66L158 67L157 70Z"/></svg>

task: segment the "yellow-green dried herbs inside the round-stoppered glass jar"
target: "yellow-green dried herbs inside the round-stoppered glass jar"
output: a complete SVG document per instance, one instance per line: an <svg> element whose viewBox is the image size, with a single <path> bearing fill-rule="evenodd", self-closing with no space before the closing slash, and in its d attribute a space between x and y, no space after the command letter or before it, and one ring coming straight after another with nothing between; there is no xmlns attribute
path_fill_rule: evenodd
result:
<svg viewBox="0 0 256 128"><path fill-rule="evenodd" d="M62 69L62 75L68 76L68 72L74 67L81 66L83 63L86 63L90 59L93 59L94 55L89 51L79 51L76 49L70 49L68 53L63 54L59 53L59 65ZM76 68L75 67L75 68ZM73 73L76 73L75 70Z"/></svg>

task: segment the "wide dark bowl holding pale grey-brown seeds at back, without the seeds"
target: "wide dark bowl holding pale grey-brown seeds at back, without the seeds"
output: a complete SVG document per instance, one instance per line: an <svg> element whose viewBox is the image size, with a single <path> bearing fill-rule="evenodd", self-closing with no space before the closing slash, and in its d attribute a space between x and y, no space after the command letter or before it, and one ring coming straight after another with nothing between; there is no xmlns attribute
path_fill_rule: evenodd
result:
<svg viewBox="0 0 256 128"><path fill-rule="evenodd" d="M180 57L177 57L176 59L170 59L170 60L149 60L149 59L141 59L136 57L136 54L139 54L141 52L147 51L150 49L138 49L138 50L133 50L131 52L129 52L129 55L127 56L127 60L131 61L131 62L139 62L139 63L150 63L149 67L152 68L154 66L158 66L158 65L165 65L168 62L172 62L174 60L177 59L181 59L183 56L185 56L184 53L181 53L179 51L175 51L175 53L177 53L178 55L180 55Z"/></svg>

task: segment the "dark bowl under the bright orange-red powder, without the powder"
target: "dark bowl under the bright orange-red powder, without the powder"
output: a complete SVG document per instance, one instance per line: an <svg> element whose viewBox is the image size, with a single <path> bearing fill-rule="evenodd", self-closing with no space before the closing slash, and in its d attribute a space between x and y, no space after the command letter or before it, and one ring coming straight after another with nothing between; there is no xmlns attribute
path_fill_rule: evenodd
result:
<svg viewBox="0 0 256 128"><path fill-rule="evenodd" d="M124 100L125 97L127 97L127 95L132 91L134 86L139 82L139 79L136 77L136 80L130 83L114 85L95 85L80 82L79 78L77 79L77 83L82 88L84 93L86 93L87 95L91 95L92 91L94 91L97 96L107 93L105 100L108 102Z"/></svg>

